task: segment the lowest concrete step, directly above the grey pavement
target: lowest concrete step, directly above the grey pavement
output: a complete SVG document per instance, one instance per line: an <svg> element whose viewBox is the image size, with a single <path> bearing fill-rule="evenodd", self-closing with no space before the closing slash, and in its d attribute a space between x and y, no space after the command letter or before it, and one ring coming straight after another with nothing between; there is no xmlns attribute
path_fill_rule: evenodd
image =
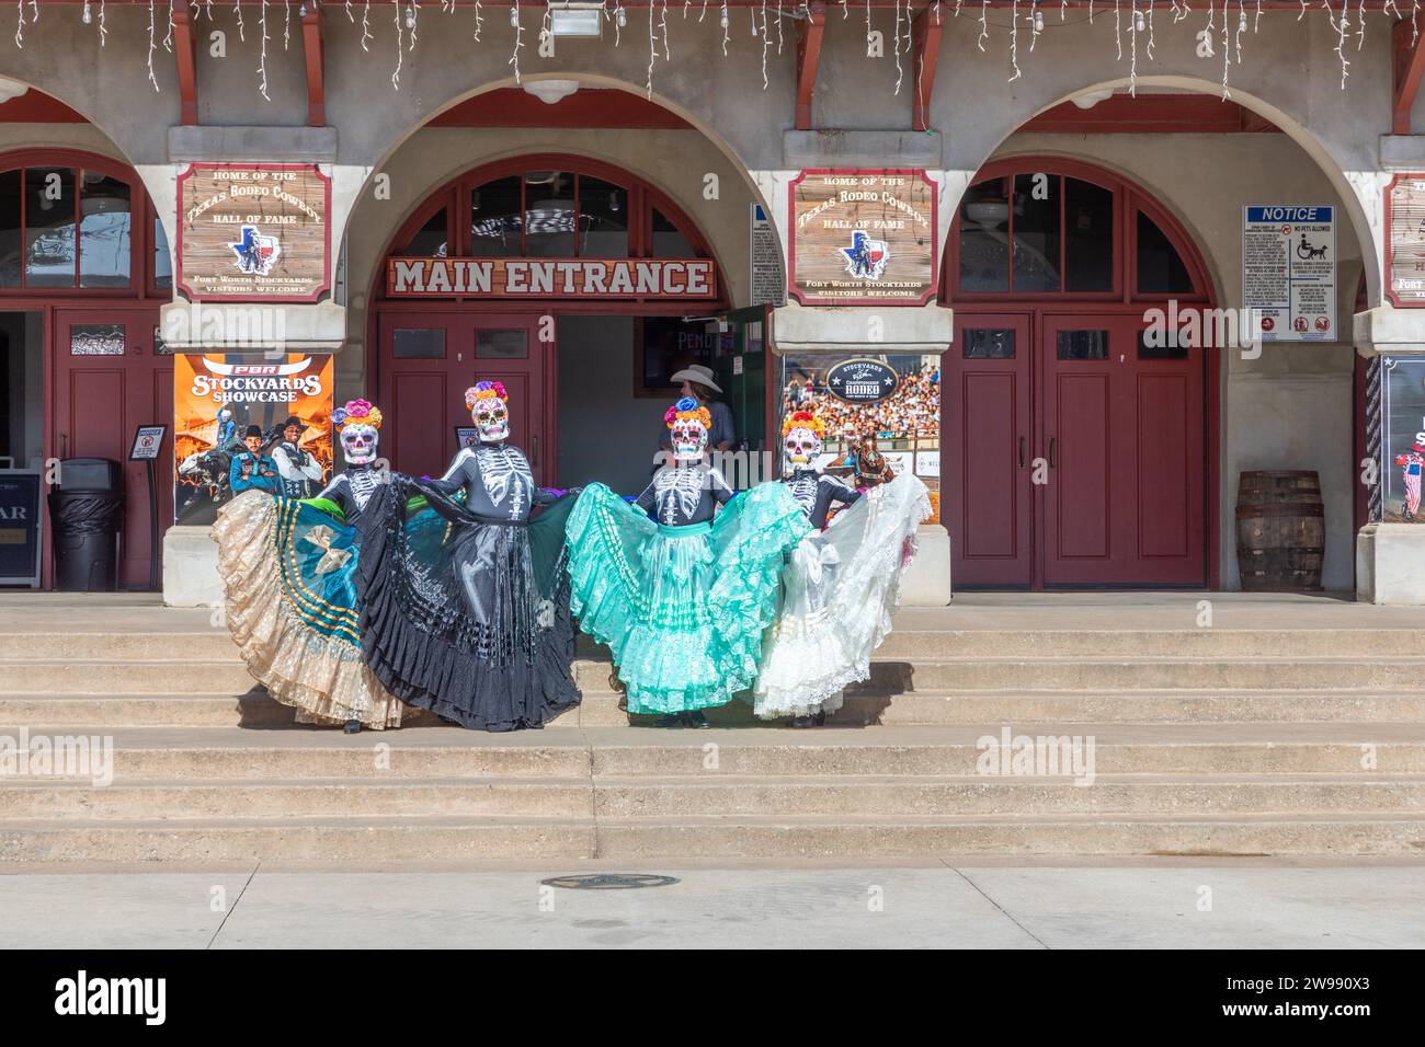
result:
<svg viewBox="0 0 1425 1047"><path fill-rule="evenodd" d="M0 863L429 868L489 860L935 855L1418 856L1425 821L1394 815L6 822Z"/></svg>

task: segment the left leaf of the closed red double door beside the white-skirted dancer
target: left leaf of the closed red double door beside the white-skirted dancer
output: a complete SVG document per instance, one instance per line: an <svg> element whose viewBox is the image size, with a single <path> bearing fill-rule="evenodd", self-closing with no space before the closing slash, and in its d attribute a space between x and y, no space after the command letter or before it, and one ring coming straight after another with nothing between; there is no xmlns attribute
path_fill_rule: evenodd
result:
<svg viewBox="0 0 1425 1047"><path fill-rule="evenodd" d="M956 585L1027 587L1035 574L1030 318L966 316L950 353L942 368L950 577Z"/></svg>

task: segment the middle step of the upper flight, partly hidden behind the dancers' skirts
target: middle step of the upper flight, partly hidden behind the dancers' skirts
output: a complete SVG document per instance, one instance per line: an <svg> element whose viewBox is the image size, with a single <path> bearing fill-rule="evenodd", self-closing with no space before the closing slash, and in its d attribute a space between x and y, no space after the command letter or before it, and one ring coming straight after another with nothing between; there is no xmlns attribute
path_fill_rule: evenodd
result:
<svg viewBox="0 0 1425 1047"><path fill-rule="evenodd" d="M590 692L610 692L610 664L581 660L574 678ZM181 679L197 694L252 689L238 660L227 661L0 661L0 695L170 694ZM939 658L876 661L871 679L852 689L903 691L1147 691L1147 689L1421 689L1425 658L1183 658L1010 660Z"/></svg>

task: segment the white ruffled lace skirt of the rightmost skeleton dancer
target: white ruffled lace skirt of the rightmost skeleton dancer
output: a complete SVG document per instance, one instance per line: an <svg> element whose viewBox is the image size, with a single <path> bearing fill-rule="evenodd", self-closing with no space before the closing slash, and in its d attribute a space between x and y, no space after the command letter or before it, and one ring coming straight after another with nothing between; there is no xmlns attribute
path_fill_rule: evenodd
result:
<svg viewBox="0 0 1425 1047"><path fill-rule="evenodd" d="M758 717L832 712L842 688L871 677L871 655L901 605L915 528L929 516L925 484L902 473L802 538L782 571L782 613L767 632L752 694Z"/></svg>

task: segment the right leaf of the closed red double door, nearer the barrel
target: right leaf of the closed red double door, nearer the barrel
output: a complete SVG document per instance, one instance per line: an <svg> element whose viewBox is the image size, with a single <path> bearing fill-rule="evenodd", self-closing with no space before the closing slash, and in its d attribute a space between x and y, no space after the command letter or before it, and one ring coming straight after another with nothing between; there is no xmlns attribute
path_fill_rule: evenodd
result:
<svg viewBox="0 0 1425 1047"><path fill-rule="evenodd" d="M1043 318L1045 585L1207 581L1203 349L1154 349L1141 329L1137 316Z"/></svg>

